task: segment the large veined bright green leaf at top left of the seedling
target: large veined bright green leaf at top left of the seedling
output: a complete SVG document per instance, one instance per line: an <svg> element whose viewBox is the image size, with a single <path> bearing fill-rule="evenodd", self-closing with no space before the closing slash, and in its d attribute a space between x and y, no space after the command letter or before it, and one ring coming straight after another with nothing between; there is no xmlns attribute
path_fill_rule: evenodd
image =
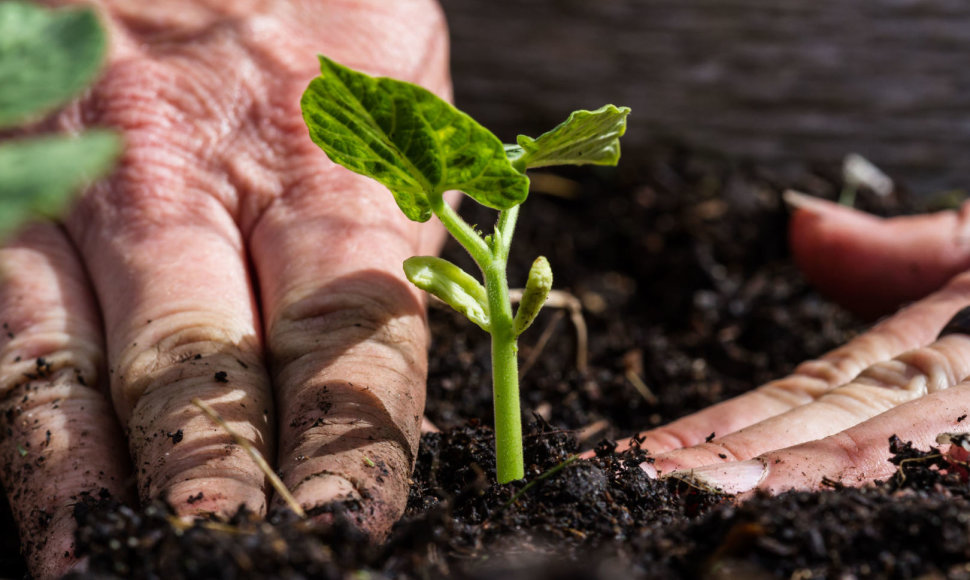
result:
<svg viewBox="0 0 970 580"><path fill-rule="evenodd" d="M528 178L495 135L417 85L321 56L320 76L300 105L313 142L335 163L384 184L414 221L431 217L431 195L451 189L500 210L528 195Z"/></svg>

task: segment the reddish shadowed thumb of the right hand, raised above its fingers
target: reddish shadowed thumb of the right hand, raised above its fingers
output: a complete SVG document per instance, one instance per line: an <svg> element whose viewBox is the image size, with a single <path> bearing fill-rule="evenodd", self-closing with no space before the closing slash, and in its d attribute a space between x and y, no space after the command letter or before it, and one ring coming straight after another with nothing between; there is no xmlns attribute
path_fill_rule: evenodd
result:
<svg viewBox="0 0 970 580"><path fill-rule="evenodd" d="M789 243L820 292L865 318L893 312L970 268L970 202L958 211L880 218L785 192Z"/></svg>

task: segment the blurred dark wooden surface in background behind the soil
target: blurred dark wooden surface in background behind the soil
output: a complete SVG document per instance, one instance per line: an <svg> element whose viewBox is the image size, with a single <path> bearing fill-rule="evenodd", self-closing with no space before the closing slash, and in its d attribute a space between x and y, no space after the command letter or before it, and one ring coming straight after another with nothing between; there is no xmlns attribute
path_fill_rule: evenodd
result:
<svg viewBox="0 0 970 580"><path fill-rule="evenodd" d="M456 101L503 139L633 108L658 139L784 165L858 152L970 188L966 0L441 0Z"/></svg>

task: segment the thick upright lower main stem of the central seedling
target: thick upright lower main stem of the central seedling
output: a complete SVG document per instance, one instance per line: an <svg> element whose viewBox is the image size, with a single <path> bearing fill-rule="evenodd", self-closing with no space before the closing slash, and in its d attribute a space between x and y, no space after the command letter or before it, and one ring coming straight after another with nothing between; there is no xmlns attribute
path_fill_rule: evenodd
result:
<svg viewBox="0 0 970 580"><path fill-rule="evenodd" d="M495 458L498 482L525 477L522 414L519 410L519 361L505 278L505 260L485 268L485 291L492 328L492 393L495 402Z"/></svg>

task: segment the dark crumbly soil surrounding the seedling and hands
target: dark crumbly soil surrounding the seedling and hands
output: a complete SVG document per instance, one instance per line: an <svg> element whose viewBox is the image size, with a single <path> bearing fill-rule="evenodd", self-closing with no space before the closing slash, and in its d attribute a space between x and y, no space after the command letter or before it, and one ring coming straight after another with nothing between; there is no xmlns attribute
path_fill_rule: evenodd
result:
<svg viewBox="0 0 970 580"><path fill-rule="evenodd" d="M77 510L86 577L970 577L970 488L935 450L887 441L904 470L888 482L742 505L648 479L646 450L614 452L612 438L779 377L864 328L788 261L781 191L831 198L835 180L663 150L619 172L534 182L510 282L549 258L556 287L584 307L589 362L577 368L574 328L555 309L523 337L521 360L542 351L522 381L525 482L493 479L487 336L432 309L428 417L442 432L423 437L407 513L385 544L339 518L316 529L242 513L229 528L184 528L162 503L135 512L88 498ZM483 228L494 219L473 203L463 212ZM472 268L458 248L446 255ZM574 459L594 447L596 458Z"/></svg>

